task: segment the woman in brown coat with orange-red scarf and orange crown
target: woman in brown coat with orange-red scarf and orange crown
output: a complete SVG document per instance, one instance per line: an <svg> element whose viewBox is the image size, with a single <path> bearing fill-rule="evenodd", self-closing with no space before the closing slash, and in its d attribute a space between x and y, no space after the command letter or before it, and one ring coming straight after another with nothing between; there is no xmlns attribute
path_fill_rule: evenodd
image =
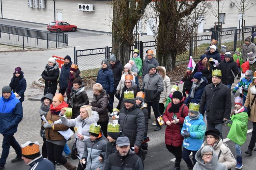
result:
<svg viewBox="0 0 256 170"><path fill-rule="evenodd" d="M68 107L68 104L64 101L64 96L60 93L56 94L53 97L53 102L50 105L50 110L47 113L46 120L51 120L52 122L59 120L60 110L64 107ZM56 161L69 170L75 170L76 167L71 165L70 162L62 156L62 151L67 140L58 132L67 131L69 127L64 124L54 124L53 129L52 125L45 121L43 121L42 125L45 129L48 159L51 160L54 165Z"/></svg>

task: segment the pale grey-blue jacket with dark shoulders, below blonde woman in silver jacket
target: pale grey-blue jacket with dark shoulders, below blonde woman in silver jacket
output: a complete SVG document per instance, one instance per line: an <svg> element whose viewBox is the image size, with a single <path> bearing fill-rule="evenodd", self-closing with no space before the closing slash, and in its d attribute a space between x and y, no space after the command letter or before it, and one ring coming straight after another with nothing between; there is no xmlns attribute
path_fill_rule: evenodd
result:
<svg viewBox="0 0 256 170"><path fill-rule="evenodd" d="M104 169L106 160L103 159L103 163L101 163L99 156L104 158L106 144L107 142L102 135L102 131L96 140L91 141L90 138L85 140L83 158L86 158L86 170Z"/></svg>

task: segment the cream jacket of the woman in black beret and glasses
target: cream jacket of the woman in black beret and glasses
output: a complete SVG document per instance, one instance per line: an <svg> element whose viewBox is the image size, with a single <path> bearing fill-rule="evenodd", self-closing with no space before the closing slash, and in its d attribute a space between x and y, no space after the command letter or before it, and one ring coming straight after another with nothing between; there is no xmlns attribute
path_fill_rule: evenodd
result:
<svg viewBox="0 0 256 170"><path fill-rule="evenodd" d="M204 147L205 145L207 145L207 141L203 142L201 148ZM219 152L221 152L219 158L217 156L217 160L219 163L224 164L227 167L227 169L236 167L236 158L234 158L228 145L224 143L221 138L219 138L219 140L213 145L213 149L216 155L219 155Z"/></svg>

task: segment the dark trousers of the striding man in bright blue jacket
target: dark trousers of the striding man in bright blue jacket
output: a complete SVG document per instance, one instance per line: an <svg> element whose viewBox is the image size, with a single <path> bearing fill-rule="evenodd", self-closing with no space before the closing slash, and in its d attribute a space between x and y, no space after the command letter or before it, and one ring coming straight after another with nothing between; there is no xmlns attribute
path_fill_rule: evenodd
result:
<svg viewBox="0 0 256 170"><path fill-rule="evenodd" d="M6 159L10 152L10 146L15 150L17 157L22 157L21 147L16 139L13 137L14 133L11 134L2 134L3 135L3 144L2 144L2 155L0 158L0 167L5 165Z"/></svg>

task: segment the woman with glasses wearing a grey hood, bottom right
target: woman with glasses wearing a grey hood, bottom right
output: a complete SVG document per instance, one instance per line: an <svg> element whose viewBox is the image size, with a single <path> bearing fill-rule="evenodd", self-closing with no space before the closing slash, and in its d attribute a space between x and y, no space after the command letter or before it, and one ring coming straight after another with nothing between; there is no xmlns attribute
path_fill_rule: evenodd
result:
<svg viewBox="0 0 256 170"><path fill-rule="evenodd" d="M196 153L197 163L194 166L194 170L227 170L227 167L218 162L218 156L214 152L214 149L206 145L199 149Z"/></svg>

